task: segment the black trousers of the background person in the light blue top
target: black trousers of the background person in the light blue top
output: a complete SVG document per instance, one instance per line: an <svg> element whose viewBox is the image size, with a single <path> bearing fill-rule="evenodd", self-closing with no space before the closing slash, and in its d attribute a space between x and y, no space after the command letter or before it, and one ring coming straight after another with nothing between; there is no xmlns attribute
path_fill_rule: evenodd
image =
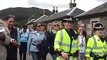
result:
<svg viewBox="0 0 107 60"><path fill-rule="evenodd" d="M19 48L20 60L26 60L26 51L27 51L27 42L21 42L21 46Z"/></svg>

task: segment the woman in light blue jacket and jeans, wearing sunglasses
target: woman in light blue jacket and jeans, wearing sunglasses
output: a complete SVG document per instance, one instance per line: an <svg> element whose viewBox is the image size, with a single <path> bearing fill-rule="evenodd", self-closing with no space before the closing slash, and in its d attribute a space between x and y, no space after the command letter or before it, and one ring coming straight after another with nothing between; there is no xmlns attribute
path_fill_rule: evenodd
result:
<svg viewBox="0 0 107 60"><path fill-rule="evenodd" d="M40 23L34 23L33 31L29 34L27 50L32 55L33 60L41 60L40 44L45 39L45 34L40 31L40 26Z"/></svg>

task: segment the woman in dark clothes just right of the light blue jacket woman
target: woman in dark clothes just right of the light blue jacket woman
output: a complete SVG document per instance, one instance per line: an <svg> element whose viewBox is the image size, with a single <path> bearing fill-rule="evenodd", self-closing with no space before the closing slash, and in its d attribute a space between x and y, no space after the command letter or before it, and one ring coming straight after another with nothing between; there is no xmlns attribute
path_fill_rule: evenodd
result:
<svg viewBox="0 0 107 60"><path fill-rule="evenodd" d="M45 39L42 41L42 44L41 44L41 50L40 50L40 53L41 53L41 57L42 57L42 60L46 60L46 56L48 54L48 36L49 36L49 32L47 31L47 26L45 23L41 23L41 26L40 26L40 31L41 32L44 32L45 34Z"/></svg>

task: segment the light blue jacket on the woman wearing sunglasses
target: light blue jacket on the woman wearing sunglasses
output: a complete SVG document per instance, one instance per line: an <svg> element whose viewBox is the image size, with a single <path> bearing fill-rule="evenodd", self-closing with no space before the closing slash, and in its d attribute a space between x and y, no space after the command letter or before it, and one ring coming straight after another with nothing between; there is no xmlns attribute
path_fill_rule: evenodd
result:
<svg viewBox="0 0 107 60"><path fill-rule="evenodd" d="M39 52L36 45L45 39L44 32L32 31L29 35L27 52Z"/></svg>

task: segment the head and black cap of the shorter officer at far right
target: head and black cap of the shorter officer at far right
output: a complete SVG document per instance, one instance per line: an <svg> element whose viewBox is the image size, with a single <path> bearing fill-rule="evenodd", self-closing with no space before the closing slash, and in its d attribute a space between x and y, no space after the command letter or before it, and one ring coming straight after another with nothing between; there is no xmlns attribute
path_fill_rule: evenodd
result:
<svg viewBox="0 0 107 60"><path fill-rule="evenodd" d="M104 26L101 23L96 23L93 27L94 34L102 37L104 35Z"/></svg>

